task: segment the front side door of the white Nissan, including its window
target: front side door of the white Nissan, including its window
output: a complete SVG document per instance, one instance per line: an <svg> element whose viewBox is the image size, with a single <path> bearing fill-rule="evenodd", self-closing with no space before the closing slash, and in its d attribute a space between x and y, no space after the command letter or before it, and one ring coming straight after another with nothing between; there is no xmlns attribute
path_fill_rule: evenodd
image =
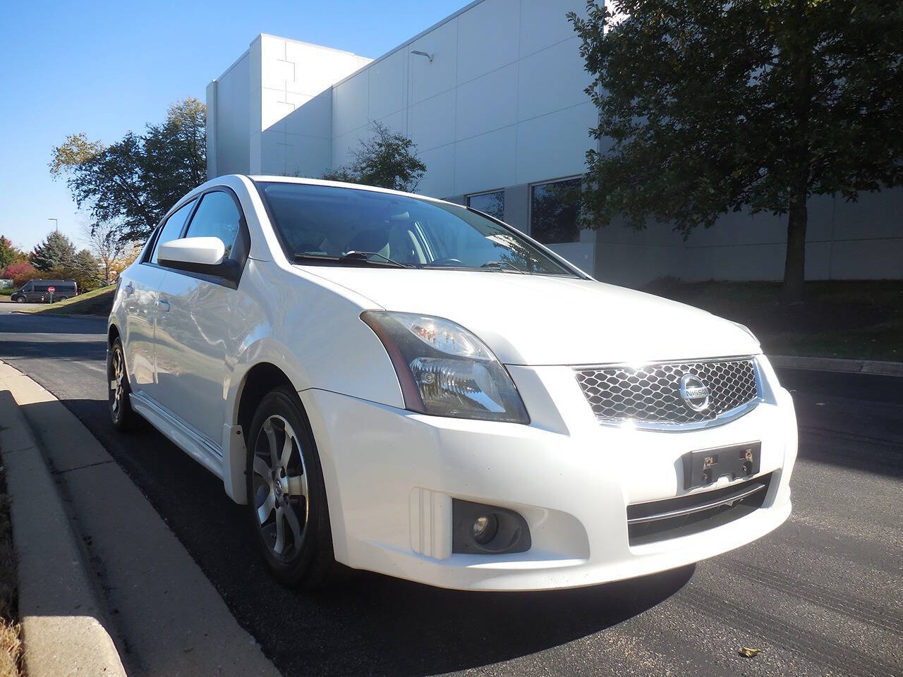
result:
<svg viewBox="0 0 903 677"><path fill-rule="evenodd" d="M185 237L219 237L240 267L250 240L244 214L231 190L204 193ZM240 269L240 268L239 268ZM208 274L170 270L160 288L156 332L159 401L219 449L224 392L240 331L231 327L237 283Z"/></svg>

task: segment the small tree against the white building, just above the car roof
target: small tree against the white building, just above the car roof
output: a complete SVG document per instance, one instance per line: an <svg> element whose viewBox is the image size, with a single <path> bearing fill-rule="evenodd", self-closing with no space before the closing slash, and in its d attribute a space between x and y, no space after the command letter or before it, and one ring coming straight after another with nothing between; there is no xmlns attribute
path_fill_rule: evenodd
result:
<svg viewBox="0 0 903 677"><path fill-rule="evenodd" d="M374 135L367 140L358 139L360 148L351 153L354 160L324 172L322 178L408 192L417 190L426 173L426 165L417 157L417 146L380 122L371 125Z"/></svg>

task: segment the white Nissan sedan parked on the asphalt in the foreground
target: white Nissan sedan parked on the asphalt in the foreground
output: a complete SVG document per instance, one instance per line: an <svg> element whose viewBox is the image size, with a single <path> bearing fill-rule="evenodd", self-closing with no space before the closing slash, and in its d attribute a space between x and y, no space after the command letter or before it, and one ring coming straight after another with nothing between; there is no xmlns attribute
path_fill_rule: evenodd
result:
<svg viewBox="0 0 903 677"><path fill-rule="evenodd" d="M121 275L108 346L113 424L222 478L288 584L583 586L790 514L794 405L749 329L439 199L209 181Z"/></svg>

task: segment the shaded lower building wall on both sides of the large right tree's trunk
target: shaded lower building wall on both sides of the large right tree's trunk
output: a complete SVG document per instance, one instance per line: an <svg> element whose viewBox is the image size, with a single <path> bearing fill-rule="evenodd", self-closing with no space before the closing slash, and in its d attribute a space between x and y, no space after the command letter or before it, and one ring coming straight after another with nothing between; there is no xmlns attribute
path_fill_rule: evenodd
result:
<svg viewBox="0 0 903 677"><path fill-rule="evenodd" d="M903 190L809 200L805 276L810 280L903 278ZM787 216L728 214L684 242L656 224L634 232L612 223L596 240L596 276L641 285L665 275L681 280L780 280Z"/></svg>

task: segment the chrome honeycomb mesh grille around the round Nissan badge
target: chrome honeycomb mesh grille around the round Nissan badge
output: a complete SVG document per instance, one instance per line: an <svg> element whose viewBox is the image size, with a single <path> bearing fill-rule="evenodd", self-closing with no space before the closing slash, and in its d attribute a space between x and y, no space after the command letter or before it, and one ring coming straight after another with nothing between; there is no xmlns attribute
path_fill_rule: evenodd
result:
<svg viewBox="0 0 903 677"><path fill-rule="evenodd" d="M582 366L574 371L600 422L637 422L648 427L704 424L759 399L751 357L636 367ZM686 374L698 376L708 387L709 405L702 411L684 402L680 381Z"/></svg>

